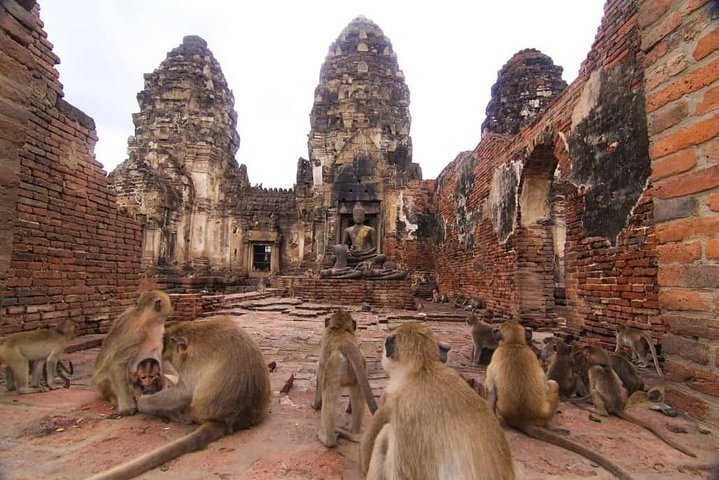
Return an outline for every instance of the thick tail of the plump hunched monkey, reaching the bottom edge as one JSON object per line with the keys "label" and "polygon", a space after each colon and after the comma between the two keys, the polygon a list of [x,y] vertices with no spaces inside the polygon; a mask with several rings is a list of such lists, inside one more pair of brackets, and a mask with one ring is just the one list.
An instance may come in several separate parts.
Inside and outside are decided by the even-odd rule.
{"label": "thick tail of the plump hunched monkey, reaching the bottom edge", "polygon": [[87,480],[127,480],[134,478],[158,465],[177,458],[188,452],[205,448],[225,434],[222,422],[207,422],[194,432],[178,438],[165,446],[149,452],[135,460],[125,462],[104,472],[93,475]]}

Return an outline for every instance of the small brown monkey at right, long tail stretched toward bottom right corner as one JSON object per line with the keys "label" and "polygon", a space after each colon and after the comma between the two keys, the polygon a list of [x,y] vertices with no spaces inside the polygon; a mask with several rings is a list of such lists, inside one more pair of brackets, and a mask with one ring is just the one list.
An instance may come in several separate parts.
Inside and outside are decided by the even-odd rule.
{"label": "small brown monkey at right, long tail stretched toward bottom right corner", "polygon": [[690,457],[696,457],[694,452],[673,441],[654,425],[640,420],[624,410],[627,404],[627,389],[624,388],[619,376],[609,366],[609,355],[606,351],[601,347],[587,345],[582,349],[582,352],[589,364],[589,394],[592,397],[594,409],[599,415],[616,415],[644,427],[680,452]]}

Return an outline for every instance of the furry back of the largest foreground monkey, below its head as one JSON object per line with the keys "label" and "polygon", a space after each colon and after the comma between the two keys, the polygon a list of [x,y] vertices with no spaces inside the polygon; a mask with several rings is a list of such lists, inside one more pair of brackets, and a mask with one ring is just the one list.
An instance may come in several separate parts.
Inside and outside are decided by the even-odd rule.
{"label": "furry back of the largest foreground monkey, below its head", "polygon": [[414,375],[390,401],[391,423],[404,446],[397,449],[398,478],[514,478],[499,422],[453,370],[442,365],[431,375]]}

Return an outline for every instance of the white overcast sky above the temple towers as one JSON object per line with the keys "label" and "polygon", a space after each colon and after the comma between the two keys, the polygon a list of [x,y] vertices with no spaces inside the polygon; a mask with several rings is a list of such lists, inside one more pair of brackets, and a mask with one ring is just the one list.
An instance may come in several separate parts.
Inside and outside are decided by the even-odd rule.
{"label": "white overcast sky above the temple towers", "polygon": [[143,74],[199,35],[235,95],[250,182],[290,187],[307,158],[309,113],[330,44],[355,17],[391,40],[410,89],[413,161],[436,178],[480,140],[497,72],[537,48],[576,78],[604,0],[39,0],[65,99],[95,119],[97,159],[127,158]]}

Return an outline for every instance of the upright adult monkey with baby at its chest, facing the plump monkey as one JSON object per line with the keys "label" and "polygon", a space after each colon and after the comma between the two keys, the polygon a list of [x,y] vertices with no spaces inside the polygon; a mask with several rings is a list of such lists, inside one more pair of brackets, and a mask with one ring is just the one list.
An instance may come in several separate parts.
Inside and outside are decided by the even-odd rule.
{"label": "upright adult monkey with baby at its chest, facing the plump monkey", "polygon": [[95,360],[92,380],[100,397],[113,402],[120,415],[137,411],[130,373],[142,360],[162,356],[165,320],[172,311],[170,297],[160,290],[143,293],[137,305],[125,310],[110,329]]}

